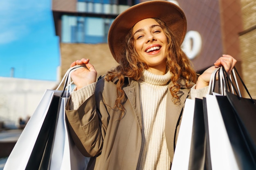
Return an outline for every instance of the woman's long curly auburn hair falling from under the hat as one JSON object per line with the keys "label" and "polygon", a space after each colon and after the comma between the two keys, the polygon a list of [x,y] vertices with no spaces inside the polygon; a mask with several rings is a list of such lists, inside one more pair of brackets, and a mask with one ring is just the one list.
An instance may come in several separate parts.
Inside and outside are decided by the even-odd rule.
{"label": "woman's long curly auburn hair falling from under the hat", "polygon": [[[192,87],[190,82],[196,83],[197,74],[191,67],[191,61],[188,59],[186,54],[180,47],[180,42],[175,39],[172,31],[166,26],[166,24],[158,19],[154,18],[157,23],[162,27],[167,37],[167,48],[166,48],[166,70],[172,73],[171,81],[173,86],[170,87],[171,95],[173,96],[173,102],[179,103],[179,96],[177,92],[180,90],[180,84],[178,80],[182,77],[186,80],[186,87]],[[148,70],[148,64],[141,60],[138,53],[135,50],[135,39],[133,37],[133,29],[125,39],[126,49],[122,52],[123,57],[120,57],[119,65],[105,76],[106,81],[113,81],[118,78],[117,82],[117,99],[115,106],[117,109],[124,112],[125,108],[122,105],[124,101],[125,93],[123,90],[125,77],[129,77],[138,81],[141,78],[143,70]]]}

